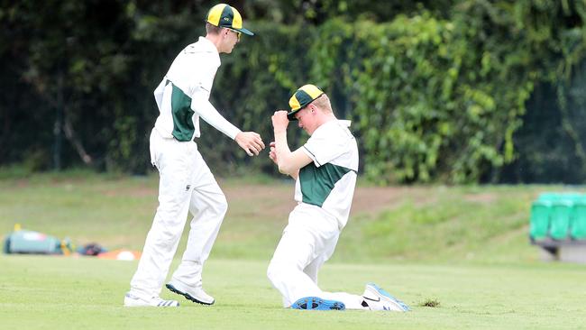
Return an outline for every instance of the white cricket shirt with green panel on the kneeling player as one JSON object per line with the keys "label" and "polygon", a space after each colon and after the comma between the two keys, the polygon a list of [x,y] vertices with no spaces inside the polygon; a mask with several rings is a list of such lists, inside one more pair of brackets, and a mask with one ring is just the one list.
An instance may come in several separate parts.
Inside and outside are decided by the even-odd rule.
{"label": "white cricket shirt with green panel on the kneeling player", "polygon": [[295,183],[298,203],[320,206],[340,228],[348,222],[358,172],[358,146],[349,121],[322,124],[301,147],[313,162],[299,170]]}

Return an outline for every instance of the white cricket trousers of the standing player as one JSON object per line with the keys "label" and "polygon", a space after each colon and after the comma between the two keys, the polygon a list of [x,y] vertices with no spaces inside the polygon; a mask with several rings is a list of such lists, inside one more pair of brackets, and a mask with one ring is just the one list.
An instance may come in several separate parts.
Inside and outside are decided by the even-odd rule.
{"label": "white cricket trousers of the standing player", "polygon": [[195,142],[163,138],[155,129],[150,142],[151,162],[160,174],[159,207],[131,280],[131,293],[146,298],[160,295],[188,213],[193,215],[188,245],[173,280],[201,286],[202,267],[227,209],[224,193]]}

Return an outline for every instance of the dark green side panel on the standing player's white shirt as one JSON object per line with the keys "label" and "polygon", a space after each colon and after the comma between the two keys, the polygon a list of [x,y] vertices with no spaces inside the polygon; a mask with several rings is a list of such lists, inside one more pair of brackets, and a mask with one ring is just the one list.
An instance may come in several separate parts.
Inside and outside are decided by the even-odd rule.
{"label": "dark green side panel on the standing player's white shirt", "polygon": [[177,141],[191,141],[195,128],[193,126],[193,114],[191,110],[191,97],[187,96],[179,87],[171,82],[171,114],[173,115],[173,136]]}

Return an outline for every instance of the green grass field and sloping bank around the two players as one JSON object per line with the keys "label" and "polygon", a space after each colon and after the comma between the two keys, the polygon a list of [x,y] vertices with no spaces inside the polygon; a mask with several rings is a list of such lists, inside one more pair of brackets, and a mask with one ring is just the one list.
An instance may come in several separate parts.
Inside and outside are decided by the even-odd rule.
{"label": "green grass field and sloping bank around the two players", "polygon": [[[413,307],[398,314],[281,308],[265,271],[293,206],[290,182],[221,185],[230,208],[204,273],[215,306],[122,307],[135,261],[0,255],[0,329],[584,328],[586,266],[539,261],[526,238],[531,200],[563,187],[361,185],[320,286],[361,293],[377,282]],[[3,179],[0,234],[19,223],[140,250],[156,189],[156,177],[83,172]]]}

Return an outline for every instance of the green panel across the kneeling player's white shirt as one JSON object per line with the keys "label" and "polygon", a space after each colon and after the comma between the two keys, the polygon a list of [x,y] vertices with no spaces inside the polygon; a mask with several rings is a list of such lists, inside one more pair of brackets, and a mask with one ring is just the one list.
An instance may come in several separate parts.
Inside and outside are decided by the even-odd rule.
{"label": "green panel across the kneeling player's white shirt", "polygon": [[353,171],[342,166],[327,163],[316,167],[313,162],[299,170],[299,185],[303,203],[323,206],[334,185],[346,173]]}

